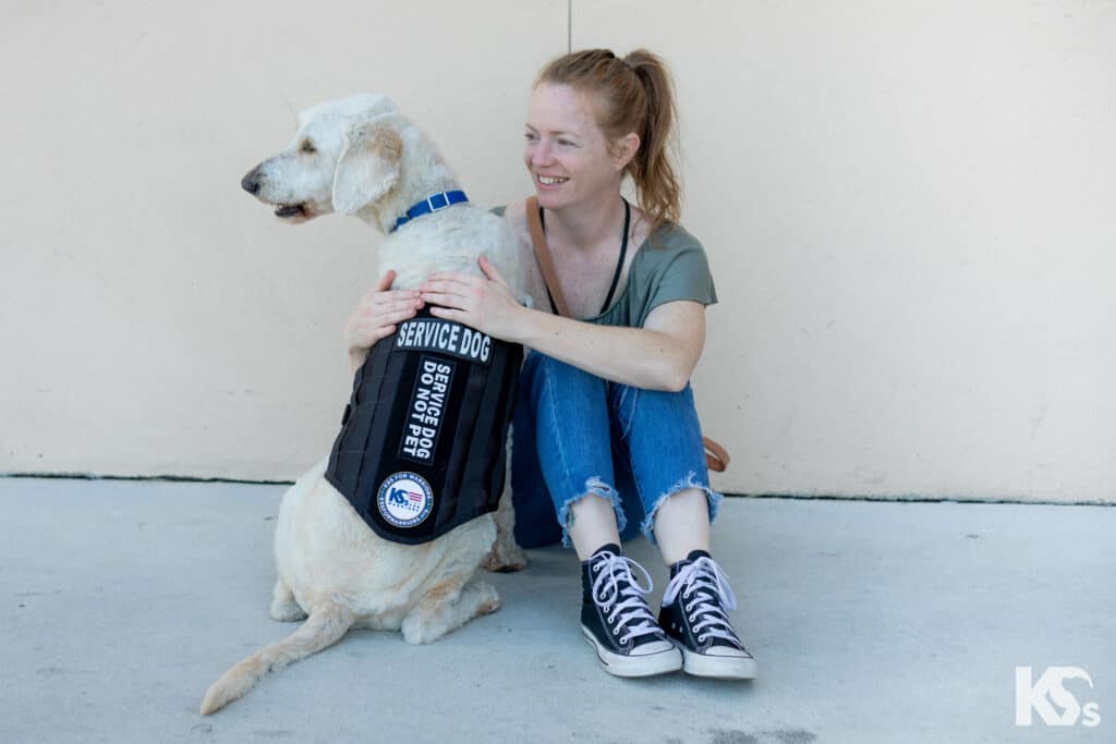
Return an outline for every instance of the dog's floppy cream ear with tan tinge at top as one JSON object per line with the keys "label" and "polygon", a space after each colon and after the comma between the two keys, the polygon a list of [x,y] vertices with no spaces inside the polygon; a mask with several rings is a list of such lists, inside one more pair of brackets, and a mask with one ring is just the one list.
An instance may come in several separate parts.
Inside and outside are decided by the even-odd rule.
{"label": "dog's floppy cream ear with tan tinge at top", "polygon": [[383,118],[352,123],[334,173],[334,210],[352,215],[383,197],[398,182],[402,160],[403,139]]}

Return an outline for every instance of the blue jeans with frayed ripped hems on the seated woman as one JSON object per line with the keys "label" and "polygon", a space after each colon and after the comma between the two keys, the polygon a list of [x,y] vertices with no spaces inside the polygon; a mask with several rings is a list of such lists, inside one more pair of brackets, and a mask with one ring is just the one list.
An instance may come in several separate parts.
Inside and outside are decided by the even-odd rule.
{"label": "blue jeans with frayed ripped hems on the seated woman", "polygon": [[[693,390],[612,383],[531,351],[519,378],[512,438],[516,540],[569,545],[569,508],[587,493],[613,502],[620,539],[654,542],[655,510],[683,489],[705,492],[713,521]],[[556,519],[557,518],[557,519]]]}

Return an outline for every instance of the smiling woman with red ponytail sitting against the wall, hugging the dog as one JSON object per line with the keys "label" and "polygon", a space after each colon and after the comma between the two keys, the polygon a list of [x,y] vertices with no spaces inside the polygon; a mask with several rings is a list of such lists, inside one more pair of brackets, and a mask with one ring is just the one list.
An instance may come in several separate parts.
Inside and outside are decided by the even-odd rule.
{"label": "smiling woman with red ponytail sitting against the wall, hugging the dog", "polygon": [[[523,162],[574,318],[520,306],[481,259],[487,278],[434,274],[416,291],[389,291],[388,272],[346,336],[357,364],[430,302],[439,318],[532,349],[512,448],[520,543],[573,541],[581,630],[607,671],[750,678],[756,661],[725,613],[735,599],[709,553],[721,495],[709,486],[689,378],[716,294],[701,244],[676,224],[673,120],[668,73],[645,50],[551,61],[531,96]],[[637,207],[620,196],[625,175]],[[522,228],[526,210],[504,219]],[[657,621],[651,577],[620,553],[622,531],[636,529],[671,569]]]}

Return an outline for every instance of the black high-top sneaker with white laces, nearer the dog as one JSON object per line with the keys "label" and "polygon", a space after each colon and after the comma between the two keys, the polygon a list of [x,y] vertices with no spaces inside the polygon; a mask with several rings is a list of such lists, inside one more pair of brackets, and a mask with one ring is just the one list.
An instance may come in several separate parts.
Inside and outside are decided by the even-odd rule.
{"label": "black high-top sneaker with white laces, nearer the dog", "polygon": [[[632,568],[647,588],[632,577]],[[581,563],[581,632],[597,651],[605,671],[617,677],[647,677],[682,668],[682,655],[655,624],[647,600],[651,576],[619,545],[597,549]]]}

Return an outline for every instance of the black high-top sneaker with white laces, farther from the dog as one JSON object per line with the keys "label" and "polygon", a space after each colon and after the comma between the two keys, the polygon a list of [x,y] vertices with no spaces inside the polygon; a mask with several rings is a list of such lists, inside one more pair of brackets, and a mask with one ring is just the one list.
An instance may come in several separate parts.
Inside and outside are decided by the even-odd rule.
{"label": "black high-top sneaker with white laces, farther from the dog", "polygon": [[671,567],[658,624],[682,649],[683,669],[699,677],[751,679],[756,659],[737,638],[725,610],[737,609],[729,580],[704,550]]}

